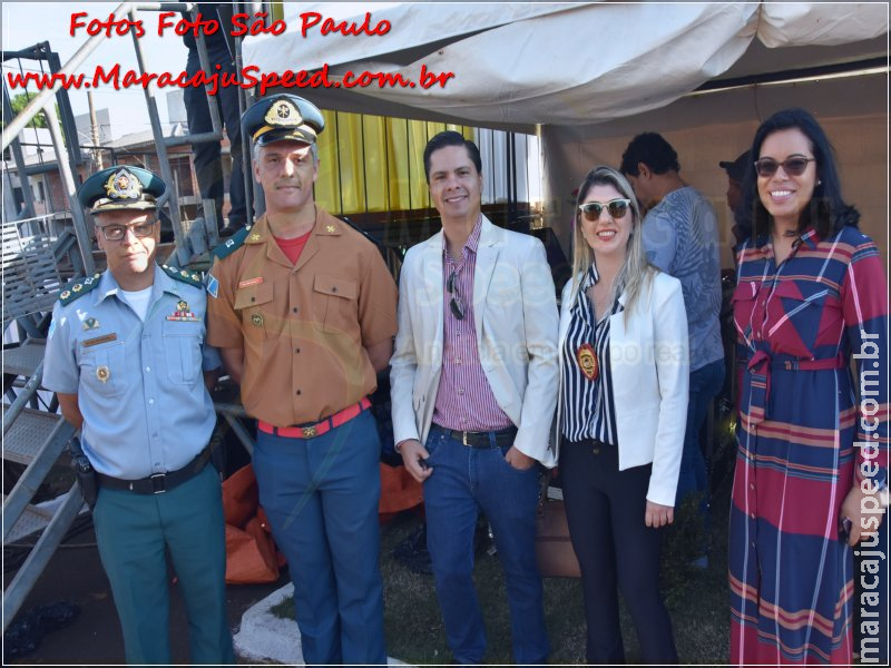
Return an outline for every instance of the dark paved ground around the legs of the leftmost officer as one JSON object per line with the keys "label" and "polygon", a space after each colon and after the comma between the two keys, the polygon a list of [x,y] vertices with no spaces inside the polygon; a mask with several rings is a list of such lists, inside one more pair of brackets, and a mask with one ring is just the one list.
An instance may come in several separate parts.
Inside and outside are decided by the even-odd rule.
{"label": "dark paved ground around the legs of the leftmost officer", "polygon": [[[58,600],[80,606],[79,617],[68,627],[43,637],[40,647],[27,656],[10,659],[12,664],[32,665],[97,665],[124,664],[124,642],[108,580],[99,562],[96,538],[89,525],[56,552],[22,607],[22,611]],[[4,564],[14,554],[4,550]],[[3,586],[14,571],[3,573]],[[283,577],[272,584],[238,584],[227,588],[229,625],[238,629],[242,615],[255,602],[268,596],[287,581]],[[174,661],[188,661],[188,639],[185,607],[176,587],[172,589],[170,638]]]}

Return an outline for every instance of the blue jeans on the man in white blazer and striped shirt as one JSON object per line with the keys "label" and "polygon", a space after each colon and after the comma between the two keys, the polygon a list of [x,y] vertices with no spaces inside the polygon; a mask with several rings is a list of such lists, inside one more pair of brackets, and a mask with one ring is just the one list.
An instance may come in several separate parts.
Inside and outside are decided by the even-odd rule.
{"label": "blue jeans on the man in white blazer and striped shirt", "polygon": [[541,574],[535,553],[538,466],[513,469],[510,446],[469,448],[437,425],[427,439],[433,474],[424,482],[427,546],[446,637],[454,660],[479,664],[486,652],[482,612],[473,588],[473,533],[480,511],[495,533],[510,606],[513,660],[545,664]]}

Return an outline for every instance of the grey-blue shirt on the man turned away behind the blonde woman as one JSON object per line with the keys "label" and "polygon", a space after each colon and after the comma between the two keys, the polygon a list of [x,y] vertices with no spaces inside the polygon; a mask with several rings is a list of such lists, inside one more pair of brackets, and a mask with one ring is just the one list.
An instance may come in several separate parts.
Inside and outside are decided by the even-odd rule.
{"label": "grey-blue shirt on the man turned away behind the blonde woman", "polygon": [[650,264],[681,281],[689,332],[689,370],[724,358],[717,216],[694,188],[672,190],[644,218]]}

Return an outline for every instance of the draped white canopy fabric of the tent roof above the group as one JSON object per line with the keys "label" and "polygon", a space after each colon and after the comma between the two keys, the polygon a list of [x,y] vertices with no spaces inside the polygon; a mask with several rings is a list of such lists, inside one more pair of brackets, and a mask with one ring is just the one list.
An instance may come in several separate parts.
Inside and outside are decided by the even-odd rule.
{"label": "draped white canopy fabric of the tent roof above the group", "polygon": [[[390,30],[322,35],[316,23],[303,37],[307,12],[356,24],[371,12],[372,27],[388,21]],[[285,22],[284,35],[248,39],[245,62],[266,72],[327,65],[333,79],[347,70],[411,81],[422,67],[454,73],[429,89],[307,90],[322,106],[414,108],[414,117],[505,128],[611,120],[664,107],[722,76],[888,55],[885,3],[286,2]]]}

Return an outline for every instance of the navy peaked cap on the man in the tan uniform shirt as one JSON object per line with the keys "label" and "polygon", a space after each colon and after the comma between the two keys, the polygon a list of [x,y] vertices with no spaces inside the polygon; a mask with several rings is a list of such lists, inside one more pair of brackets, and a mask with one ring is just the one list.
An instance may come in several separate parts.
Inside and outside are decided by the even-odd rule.
{"label": "navy peaked cap on the man in the tan uniform shirt", "polygon": [[325,119],[319,107],[295,95],[260,100],[242,116],[242,132],[261,146],[285,139],[315,144],[324,129]]}

